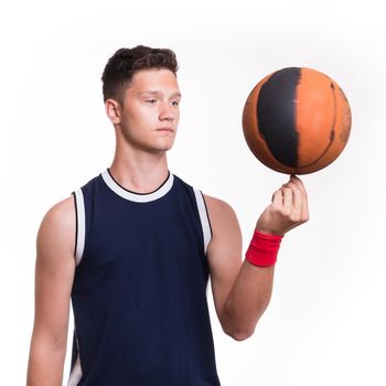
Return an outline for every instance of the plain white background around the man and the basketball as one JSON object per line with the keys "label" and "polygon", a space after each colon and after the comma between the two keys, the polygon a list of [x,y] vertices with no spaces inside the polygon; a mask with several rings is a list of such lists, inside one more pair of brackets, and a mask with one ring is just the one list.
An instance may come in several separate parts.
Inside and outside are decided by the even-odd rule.
{"label": "plain white background around the man and the basketball", "polygon": [[[303,176],[311,219],[283,239],[255,335],[226,336],[211,303],[217,367],[224,386],[386,385],[384,23],[372,0],[1,6],[1,384],[25,383],[40,222],[112,160],[103,68],[118,47],[144,44],[171,47],[180,62],[170,170],[235,208],[244,251],[287,180],[244,141],[250,89],[287,66],[319,69],[343,88],[351,139],[333,164]],[[68,371],[67,358],[65,380]]]}

